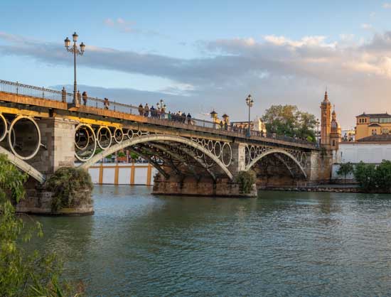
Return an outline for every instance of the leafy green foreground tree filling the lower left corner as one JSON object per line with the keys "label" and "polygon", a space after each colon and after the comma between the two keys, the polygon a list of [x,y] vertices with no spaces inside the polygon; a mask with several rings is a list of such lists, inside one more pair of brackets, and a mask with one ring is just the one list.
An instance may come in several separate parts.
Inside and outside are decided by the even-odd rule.
{"label": "leafy green foreground tree filling the lower left corner", "polygon": [[0,296],[70,296],[70,287],[59,281],[58,258],[22,247],[33,234],[43,236],[41,224],[27,227],[11,203],[24,198],[26,180],[27,175],[0,154]]}

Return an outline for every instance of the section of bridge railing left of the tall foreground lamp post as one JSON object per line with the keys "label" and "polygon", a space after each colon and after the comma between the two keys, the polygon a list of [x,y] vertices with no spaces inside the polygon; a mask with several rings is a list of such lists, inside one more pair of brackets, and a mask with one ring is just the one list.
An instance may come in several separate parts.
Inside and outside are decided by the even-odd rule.
{"label": "section of bridge railing left of the tall foreground lamp post", "polygon": [[58,90],[51,90],[45,87],[36,87],[32,85],[23,85],[18,82],[9,82],[7,80],[0,80],[0,92],[36,97],[39,99],[50,99],[60,102],[63,101],[63,99],[65,99],[66,102],[73,101],[73,94],[71,93],[66,93],[65,98],[63,98],[63,92]]}

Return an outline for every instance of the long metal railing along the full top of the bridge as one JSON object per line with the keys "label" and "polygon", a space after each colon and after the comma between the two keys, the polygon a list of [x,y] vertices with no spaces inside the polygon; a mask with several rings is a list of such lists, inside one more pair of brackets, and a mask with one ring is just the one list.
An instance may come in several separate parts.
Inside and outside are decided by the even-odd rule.
{"label": "long metal railing along the full top of the bridge", "polygon": [[[6,80],[0,80],[0,92],[6,92],[10,94],[16,95],[24,95],[28,97],[36,97],[40,99],[50,99],[59,102],[67,102],[73,103],[73,94],[58,90],[51,90],[45,87],[35,87],[32,85],[23,85],[18,82],[9,82]],[[161,112],[157,109],[151,111],[149,108],[148,112],[144,107],[141,109],[140,107],[134,106],[132,104],[123,104],[111,100],[105,100],[94,97],[82,97],[80,96],[80,105],[85,105],[87,107],[95,107],[97,109],[109,109],[115,112],[122,112],[124,114],[134,114],[142,117],[148,117],[149,119],[153,119],[156,121],[156,124],[168,125],[171,126],[171,123],[180,123],[186,124],[189,126],[199,126],[204,128],[215,129],[219,131],[230,131],[231,133],[235,133],[238,136],[243,136],[247,134],[247,129],[240,128],[237,126],[231,125],[222,125],[220,123],[214,121],[207,121],[205,119],[196,119],[193,117],[188,118],[187,115],[183,116],[183,114],[177,113],[167,113]],[[316,144],[306,141],[304,139],[296,139],[288,136],[280,136],[277,134],[263,133],[262,131],[251,131],[251,136],[256,137],[264,137],[266,139],[277,139],[279,141],[287,141],[296,144],[305,144],[318,147]]]}

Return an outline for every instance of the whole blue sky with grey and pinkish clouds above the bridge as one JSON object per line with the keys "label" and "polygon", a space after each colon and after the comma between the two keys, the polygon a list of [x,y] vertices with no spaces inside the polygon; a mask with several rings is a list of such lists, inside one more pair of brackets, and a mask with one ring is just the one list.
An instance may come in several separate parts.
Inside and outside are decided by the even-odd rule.
{"label": "whole blue sky with grey and pinkish clouds above the bridge", "polygon": [[320,117],[327,87],[343,128],[391,113],[391,0],[0,0],[0,80],[73,89],[193,117],[245,120],[272,104]]}

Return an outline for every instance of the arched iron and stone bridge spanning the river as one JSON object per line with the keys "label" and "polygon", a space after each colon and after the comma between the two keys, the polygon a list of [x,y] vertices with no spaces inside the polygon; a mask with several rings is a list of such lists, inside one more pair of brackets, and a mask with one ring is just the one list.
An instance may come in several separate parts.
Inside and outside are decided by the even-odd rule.
{"label": "arched iron and stone bridge spanning the river", "polygon": [[174,120],[166,113],[144,117],[131,104],[85,99],[0,80],[0,153],[44,185],[61,166],[87,169],[126,148],[159,171],[156,194],[240,195],[240,171],[255,171],[257,185],[329,176],[328,161],[307,141],[259,131],[246,136],[215,121]]}

